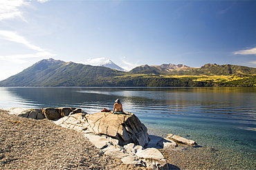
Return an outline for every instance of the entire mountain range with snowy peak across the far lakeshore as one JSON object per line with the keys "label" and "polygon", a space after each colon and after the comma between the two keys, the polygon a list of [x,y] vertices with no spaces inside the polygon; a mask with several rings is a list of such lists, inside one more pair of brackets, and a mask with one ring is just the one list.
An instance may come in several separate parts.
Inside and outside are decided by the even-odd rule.
{"label": "entire mountain range with snowy peak across the far lakeshore", "polygon": [[[115,67],[113,67],[115,66]],[[44,59],[19,74],[0,81],[5,87],[212,87],[256,86],[256,68],[241,65],[205,64],[140,65],[119,71],[112,61],[100,66]],[[112,67],[112,68],[109,68]],[[121,68],[122,69],[122,68]]]}

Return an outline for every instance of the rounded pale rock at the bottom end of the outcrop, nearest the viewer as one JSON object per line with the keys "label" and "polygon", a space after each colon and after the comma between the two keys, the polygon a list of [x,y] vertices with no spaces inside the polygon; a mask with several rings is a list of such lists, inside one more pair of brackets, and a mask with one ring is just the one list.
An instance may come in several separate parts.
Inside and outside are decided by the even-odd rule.
{"label": "rounded pale rock at the bottom end of the outcrop, nearest the viewer", "polygon": [[162,153],[156,148],[147,148],[138,151],[136,156],[145,162],[146,166],[151,169],[168,169],[167,160],[163,157]]}

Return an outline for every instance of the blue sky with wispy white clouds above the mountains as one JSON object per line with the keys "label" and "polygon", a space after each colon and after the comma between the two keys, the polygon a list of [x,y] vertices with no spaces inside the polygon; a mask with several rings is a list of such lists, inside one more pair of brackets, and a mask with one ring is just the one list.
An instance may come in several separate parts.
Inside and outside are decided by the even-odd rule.
{"label": "blue sky with wispy white clouds above the mountains", "polygon": [[256,1],[0,0],[0,81],[51,58],[256,67]]}

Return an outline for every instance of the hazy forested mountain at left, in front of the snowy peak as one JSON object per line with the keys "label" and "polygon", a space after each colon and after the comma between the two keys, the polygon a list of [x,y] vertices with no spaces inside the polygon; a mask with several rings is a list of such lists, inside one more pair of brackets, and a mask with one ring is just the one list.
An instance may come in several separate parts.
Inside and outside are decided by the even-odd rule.
{"label": "hazy forested mountain at left, in front of the snowy peak", "polygon": [[47,65],[43,60],[1,81],[0,86],[83,86],[91,80],[122,74],[107,67],[64,62]]}

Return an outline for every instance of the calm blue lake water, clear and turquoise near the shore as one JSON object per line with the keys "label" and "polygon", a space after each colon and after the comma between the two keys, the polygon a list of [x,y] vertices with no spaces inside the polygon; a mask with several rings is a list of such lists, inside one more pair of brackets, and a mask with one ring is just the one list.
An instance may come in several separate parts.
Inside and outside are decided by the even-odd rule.
{"label": "calm blue lake water, clear and turquoise near the shore", "polygon": [[79,107],[90,114],[113,109],[120,98],[149,134],[176,134],[255,164],[255,87],[0,87],[0,96],[0,108]]}

